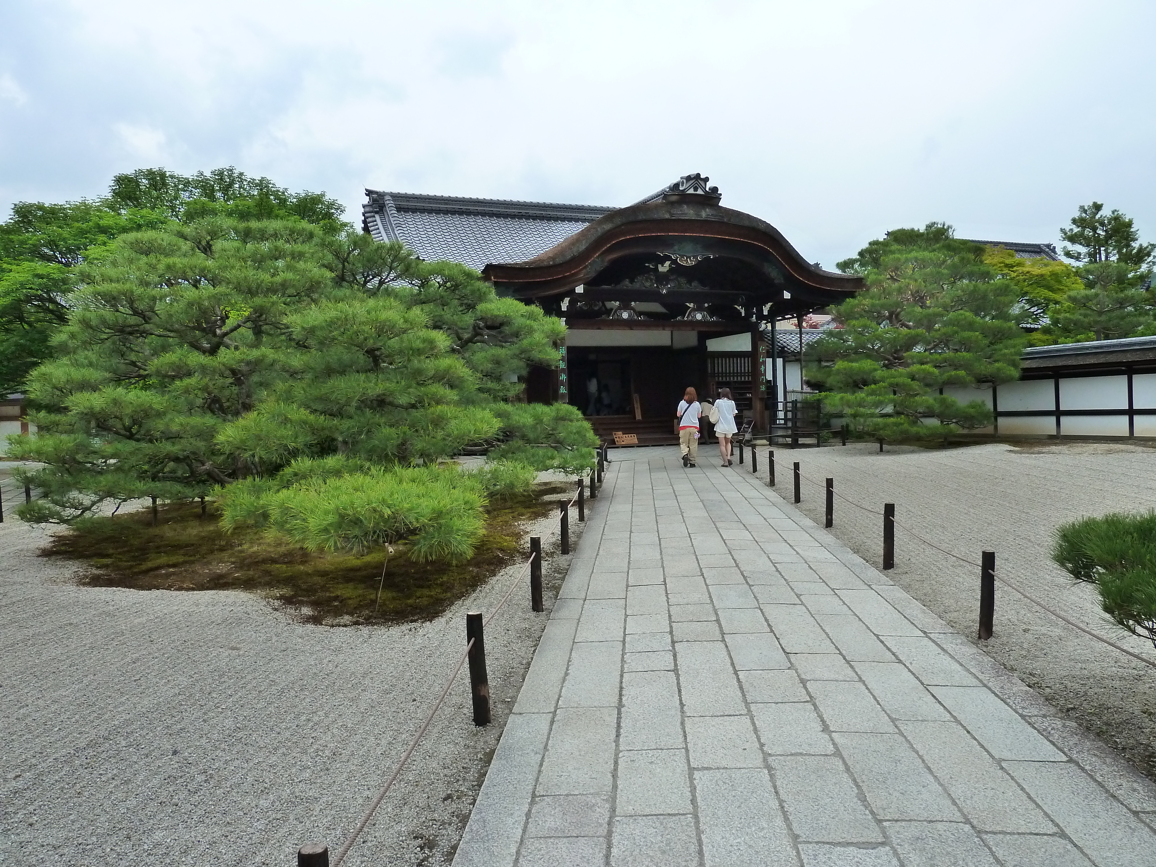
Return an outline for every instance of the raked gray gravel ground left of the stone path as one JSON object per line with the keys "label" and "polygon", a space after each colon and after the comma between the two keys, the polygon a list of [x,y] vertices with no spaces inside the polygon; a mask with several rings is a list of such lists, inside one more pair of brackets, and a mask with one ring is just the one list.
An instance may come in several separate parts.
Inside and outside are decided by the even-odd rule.
{"label": "raked gray gravel ground left of the stone path", "polygon": [[[569,557],[554,518],[535,527],[556,588]],[[0,525],[0,864],[21,867],[335,851],[457,662],[465,612],[520,570],[430,623],[326,628],[246,593],[77,587],[45,540]],[[486,635],[494,724],[473,726],[459,675],[348,867],[449,864],[547,616],[514,592]]]}

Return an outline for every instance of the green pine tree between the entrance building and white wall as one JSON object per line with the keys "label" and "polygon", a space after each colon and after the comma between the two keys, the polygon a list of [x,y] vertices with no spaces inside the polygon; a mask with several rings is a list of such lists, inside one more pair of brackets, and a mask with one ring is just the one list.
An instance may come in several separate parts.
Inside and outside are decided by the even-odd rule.
{"label": "green pine tree between the entrance building and white wall", "polygon": [[[951,393],[1018,377],[1020,292],[984,249],[928,223],[873,240],[838,267],[867,288],[833,310],[807,377],[828,412],[885,439],[943,436],[992,423],[981,400]],[[962,392],[956,391],[955,394]]]}

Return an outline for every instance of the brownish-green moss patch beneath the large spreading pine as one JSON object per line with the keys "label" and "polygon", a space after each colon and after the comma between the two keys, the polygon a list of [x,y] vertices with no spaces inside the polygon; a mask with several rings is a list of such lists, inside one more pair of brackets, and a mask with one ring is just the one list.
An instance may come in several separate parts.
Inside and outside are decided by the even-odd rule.
{"label": "brownish-green moss patch beneath the large spreading pine", "polygon": [[149,510],[81,521],[44,556],[86,564],[80,581],[94,587],[251,591],[312,623],[427,620],[517,560],[525,524],[556,510],[549,497],[563,490],[569,486],[540,484],[532,494],[495,501],[474,555],[459,564],[414,562],[405,543],[394,544],[377,613],[384,549],[309,553],[252,527],[227,533],[212,507],[201,518],[195,503],[162,506],[156,527]]}

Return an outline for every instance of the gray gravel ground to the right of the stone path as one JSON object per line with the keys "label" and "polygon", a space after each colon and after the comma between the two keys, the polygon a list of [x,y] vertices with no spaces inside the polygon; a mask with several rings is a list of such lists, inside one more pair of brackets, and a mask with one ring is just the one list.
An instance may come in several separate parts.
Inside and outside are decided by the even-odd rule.
{"label": "gray gravel ground to the right of the stone path", "polygon": [[[766,477],[766,451],[759,449]],[[776,449],[778,492],[792,499],[791,464],[805,476],[799,506],[823,523],[822,484],[882,511],[942,548],[979,561],[1081,625],[1156,662],[1150,643],[1125,632],[1099,608],[1095,587],[1076,584],[1051,560],[1052,534],[1084,516],[1156,507],[1156,449],[1102,443],[1002,444],[929,451],[876,445]],[[735,462],[735,468],[739,468]],[[743,467],[749,470],[749,462]],[[882,566],[882,518],[835,501],[831,532]],[[978,622],[979,570],[896,529],[896,584],[965,636]],[[977,642],[978,643],[978,642]],[[995,631],[987,653],[1048,702],[1119,749],[1156,779],[1156,668],[1133,660],[996,584]]]}

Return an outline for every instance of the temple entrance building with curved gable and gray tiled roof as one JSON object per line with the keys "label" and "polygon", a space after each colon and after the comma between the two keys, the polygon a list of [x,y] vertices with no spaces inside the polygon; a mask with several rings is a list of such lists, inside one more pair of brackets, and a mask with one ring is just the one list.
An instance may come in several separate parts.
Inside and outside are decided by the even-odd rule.
{"label": "temple entrance building with curved gable and gray tiled roof", "polygon": [[725,385],[762,431],[787,397],[776,323],[801,324],[862,280],[812,265],[707,181],[688,175],[624,208],[366,191],[364,225],[565,320],[563,364],[532,371],[527,400],[566,401],[605,438],[658,443],[688,385],[703,398]]}

